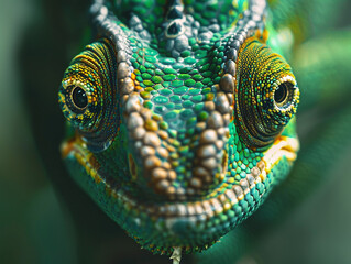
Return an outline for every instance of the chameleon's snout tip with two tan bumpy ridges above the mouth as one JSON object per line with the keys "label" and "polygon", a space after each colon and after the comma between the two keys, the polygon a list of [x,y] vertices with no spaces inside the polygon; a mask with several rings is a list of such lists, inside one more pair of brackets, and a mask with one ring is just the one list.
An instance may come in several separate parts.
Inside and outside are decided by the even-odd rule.
{"label": "chameleon's snout tip with two tan bumpy ridges above the mouth", "polygon": [[128,154],[131,178],[145,194],[167,200],[207,196],[223,180],[227,167],[228,129],[222,114],[213,111],[207,124],[197,124],[201,133],[184,142],[177,131],[165,130],[172,124],[141,101],[136,94],[130,95],[123,116],[132,150]]}

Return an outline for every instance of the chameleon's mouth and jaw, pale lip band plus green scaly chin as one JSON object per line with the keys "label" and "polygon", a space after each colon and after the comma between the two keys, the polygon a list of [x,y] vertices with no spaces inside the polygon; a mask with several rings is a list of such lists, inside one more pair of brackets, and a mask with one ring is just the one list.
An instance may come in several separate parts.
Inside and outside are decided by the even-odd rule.
{"label": "chameleon's mouth and jaw, pale lip band plus green scaly chin", "polygon": [[[288,163],[296,160],[299,142],[295,138],[279,135],[273,145],[264,152],[262,160],[251,169],[239,184],[216,195],[209,195],[199,201],[152,202],[140,201],[131,196],[123,187],[116,188],[107,178],[98,173],[99,166],[94,154],[89,152],[79,136],[75,136],[62,144],[62,154],[65,160],[74,157],[86,169],[89,179],[102,185],[110,205],[108,215],[114,219],[143,248],[158,254],[171,254],[174,246],[182,246],[184,252],[201,251],[213,244],[237,224],[248,218],[272,189],[276,180],[271,174],[273,167],[282,158]],[[74,175],[81,177],[81,175]],[[86,175],[84,175],[86,177]],[[78,180],[87,182],[85,180]],[[98,187],[92,184],[84,186],[96,202],[100,202]],[[219,187],[221,188],[221,187]],[[246,200],[253,199],[251,208],[242,210]],[[246,205],[248,206],[248,205]],[[240,210],[239,210],[240,209]],[[250,213],[248,213],[250,211]],[[123,217],[121,217],[123,216]]]}

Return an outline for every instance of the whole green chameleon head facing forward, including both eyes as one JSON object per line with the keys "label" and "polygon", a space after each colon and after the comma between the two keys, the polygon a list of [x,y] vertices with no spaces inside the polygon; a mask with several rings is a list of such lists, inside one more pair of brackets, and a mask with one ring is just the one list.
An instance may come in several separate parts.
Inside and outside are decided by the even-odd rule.
{"label": "whole green chameleon head facing forward, including both eyes", "polygon": [[298,150],[299,90],[260,1],[97,2],[59,89],[72,176],[147,250],[200,251],[248,218]]}

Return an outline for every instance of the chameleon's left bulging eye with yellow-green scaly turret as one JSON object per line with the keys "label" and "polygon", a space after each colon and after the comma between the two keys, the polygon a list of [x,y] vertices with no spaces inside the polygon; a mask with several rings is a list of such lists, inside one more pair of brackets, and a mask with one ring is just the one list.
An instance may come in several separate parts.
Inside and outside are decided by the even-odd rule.
{"label": "chameleon's left bulging eye with yellow-green scaly turret", "polygon": [[101,40],[78,54],[66,69],[58,102],[68,123],[90,151],[109,146],[117,131],[116,53]]}

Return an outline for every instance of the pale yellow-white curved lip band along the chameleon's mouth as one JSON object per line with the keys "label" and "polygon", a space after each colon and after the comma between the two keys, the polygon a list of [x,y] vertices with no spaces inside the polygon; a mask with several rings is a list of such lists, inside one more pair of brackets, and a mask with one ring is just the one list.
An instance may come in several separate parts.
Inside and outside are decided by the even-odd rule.
{"label": "pale yellow-white curved lip band along the chameleon's mouth", "polygon": [[239,184],[233,185],[232,188],[227,189],[224,193],[217,196],[209,196],[205,200],[199,201],[166,201],[153,206],[150,202],[146,204],[135,200],[123,189],[114,189],[106,179],[101,178],[97,172],[99,165],[91,163],[94,155],[87,150],[80,136],[76,135],[70,138],[63,142],[61,146],[64,158],[73,155],[77,162],[86,168],[87,174],[91,176],[95,182],[102,182],[111,196],[123,201],[124,208],[128,208],[128,210],[133,208],[136,211],[143,211],[150,217],[151,215],[153,217],[165,217],[167,221],[166,224],[168,226],[172,226],[178,218],[183,220],[185,218],[188,221],[205,221],[207,218],[231,209],[232,206],[242,200],[257,183],[266,179],[266,175],[283,156],[293,163],[296,160],[298,150],[298,139],[279,135],[273,145],[264,152],[264,156],[257,165],[251,169],[251,174],[248,174]]}

